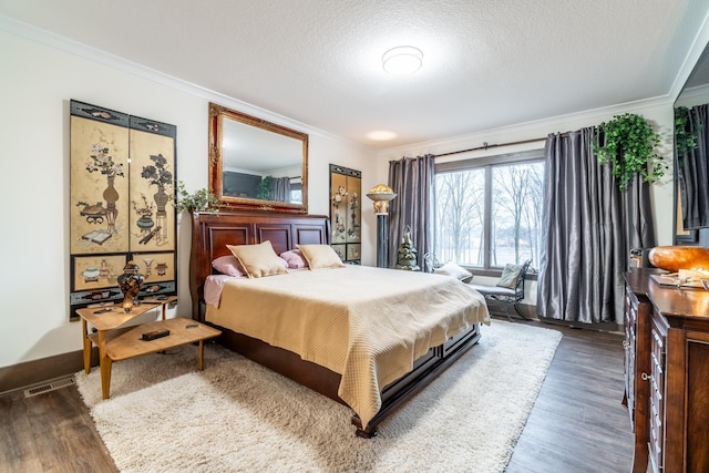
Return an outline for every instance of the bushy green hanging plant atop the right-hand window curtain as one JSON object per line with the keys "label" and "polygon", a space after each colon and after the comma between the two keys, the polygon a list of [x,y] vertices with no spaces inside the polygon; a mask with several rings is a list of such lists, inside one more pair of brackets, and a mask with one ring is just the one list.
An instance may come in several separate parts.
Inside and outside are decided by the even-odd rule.
{"label": "bushy green hanging plant atop the right-hand window curtain", "polygon": [[665,157],[655,151],[660,136],[643,116],[634,113],[616,115],[602,123],[598,131],[603,134],[604,144],[602,146],[602,140],[597,137],[594,153],[600,164],[610,162],[620,191],[627,189],[636,174],[648,183],[665,175]]}

